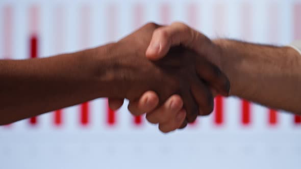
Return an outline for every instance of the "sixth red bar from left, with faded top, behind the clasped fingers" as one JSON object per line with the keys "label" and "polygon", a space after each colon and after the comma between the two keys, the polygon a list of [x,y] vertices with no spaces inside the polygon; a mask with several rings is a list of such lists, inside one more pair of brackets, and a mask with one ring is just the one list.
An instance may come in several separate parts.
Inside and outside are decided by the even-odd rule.
{"label": "sixth red bar from left, with faded top, behind the clasped fingers", "polygon": [[[134,7],[134,27],[140,27],[143,24],[143,7],[141,4],[137,4]],[[137,126],[142,125],[142,117],[134,116],[134,124]]]}

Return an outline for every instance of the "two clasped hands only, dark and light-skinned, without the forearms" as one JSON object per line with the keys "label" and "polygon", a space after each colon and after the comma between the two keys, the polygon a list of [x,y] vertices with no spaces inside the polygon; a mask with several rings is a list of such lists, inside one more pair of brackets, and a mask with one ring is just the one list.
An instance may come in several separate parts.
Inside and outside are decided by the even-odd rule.
{"label": "two clasped hands only, dark and light-skinned, without the forearms", "polygon": [[97,73],[110,108],[118,109],[127,98],[134,116],[146,112],[147,121],[159,124],[162,132],[209,115],[214,96],[229,95],[219,47],[183,23],[148,23],[102,47],[105,52],[99,49],[94,56],[104,65]]}

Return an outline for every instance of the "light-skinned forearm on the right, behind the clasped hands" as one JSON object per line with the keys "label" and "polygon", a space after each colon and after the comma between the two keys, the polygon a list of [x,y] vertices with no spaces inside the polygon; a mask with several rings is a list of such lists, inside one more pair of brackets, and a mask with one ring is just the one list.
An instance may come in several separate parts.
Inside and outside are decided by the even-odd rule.
{"label": "light-skinned forearm on the right, behind the clasped hands", "polygon": [[290,47],[214,40],[230,95],[301,114],[301,55]]}

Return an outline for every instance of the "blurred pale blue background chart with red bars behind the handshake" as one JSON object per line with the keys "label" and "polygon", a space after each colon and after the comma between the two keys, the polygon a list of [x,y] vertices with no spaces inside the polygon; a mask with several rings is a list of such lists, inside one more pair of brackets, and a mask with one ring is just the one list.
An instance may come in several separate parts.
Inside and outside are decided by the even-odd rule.
{"label": "blurred pale blue background chart with red bars behind the handshake", "polygon": [[[1,0],[0,57],[95,47],[150,21],[286,45],[301,39],[301,1]],[[0,168],[300,168],[301,118],[287,112],[218,97],[213,114],[163,134],[127,103],[114,112],[96,99],[1,126]]]}

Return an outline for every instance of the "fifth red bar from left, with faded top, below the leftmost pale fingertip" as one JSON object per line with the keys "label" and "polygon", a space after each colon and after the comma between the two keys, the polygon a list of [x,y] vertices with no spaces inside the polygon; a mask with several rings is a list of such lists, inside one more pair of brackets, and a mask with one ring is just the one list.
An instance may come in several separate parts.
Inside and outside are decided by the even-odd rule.
{"label": "fifth red bar from left, with faded top, below the leftmost pale fingertip", "polygon": [[[115,36],[116,36],[116,13],[117,13],[117,9],[116,6],[113,4],[110,4],[107,8],[106,13],[108,14],[108,21],[107,21],[107,38],[108,41],[112,41],[115,40]],[[116,124],[116,112],[114,110],[112,110],[109,107],[108,101],[107,101],[107,124],[109,126],[114,126]]]}

